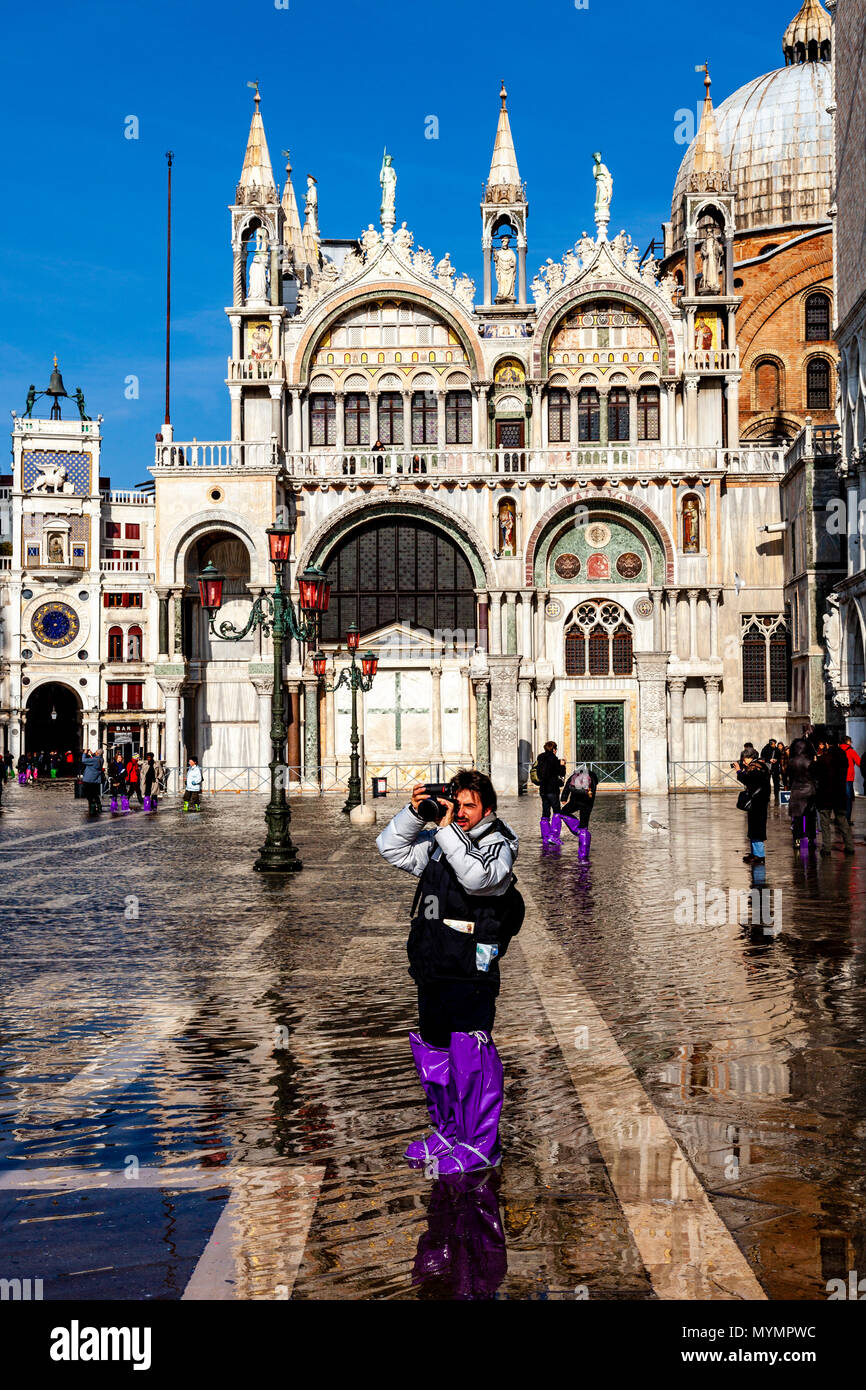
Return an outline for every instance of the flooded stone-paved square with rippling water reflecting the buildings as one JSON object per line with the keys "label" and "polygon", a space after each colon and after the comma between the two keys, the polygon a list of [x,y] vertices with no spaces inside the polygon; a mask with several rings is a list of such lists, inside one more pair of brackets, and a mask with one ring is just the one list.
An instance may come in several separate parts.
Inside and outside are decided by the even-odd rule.
{"label": "flooded stone-paved square with rippling water reflecting the buildings", "polygon": [[[731,795],[605,796],[588,863],[521,835],[502,966],[505,1159],[410,1170],[414,881],[335,798],[252,872],[264,798],[0,816],[6,1279],[44,1298],[826,1300],[866,1270],[866,844]],[[378,802],[379,827],[396,798]],[[666,828],[652,830],[652,813]]]}

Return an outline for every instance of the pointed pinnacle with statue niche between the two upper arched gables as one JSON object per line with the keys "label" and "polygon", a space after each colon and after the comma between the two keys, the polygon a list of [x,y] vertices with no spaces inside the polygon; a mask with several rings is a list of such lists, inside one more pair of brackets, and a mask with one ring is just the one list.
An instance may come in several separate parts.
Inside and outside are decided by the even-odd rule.
{"label": "pointed pinnacle with statue niche between the two upper arched gables", "polygon": [[[491,172],[481,203],[481,245],[484,250],[484,304],[525,304],[527,302],[527,203],[525,186],[517,170],[517,156],[506,106],[505,82]],[[496,297],[492,299],[492,270]]]}

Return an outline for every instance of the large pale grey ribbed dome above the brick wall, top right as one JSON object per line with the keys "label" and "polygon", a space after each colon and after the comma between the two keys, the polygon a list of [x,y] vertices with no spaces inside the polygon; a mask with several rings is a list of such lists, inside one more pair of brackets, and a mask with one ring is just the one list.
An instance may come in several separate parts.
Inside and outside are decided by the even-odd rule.
{"label": "large pale grey ribbed dome above the brick wall, top right", "polygon": [[[716,108],[719,149],[737,192],[737,229],[828,221],[833,178],[828,61],[799,61],[748,82]],[[683,195],[696,139],[680,165],[671,203],[683,245]]]}

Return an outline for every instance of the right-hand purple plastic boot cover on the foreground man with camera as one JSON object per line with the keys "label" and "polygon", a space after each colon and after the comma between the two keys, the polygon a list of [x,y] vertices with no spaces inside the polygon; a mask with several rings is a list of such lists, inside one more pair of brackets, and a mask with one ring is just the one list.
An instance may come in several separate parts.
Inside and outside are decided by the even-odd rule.
{"label": "right-hand purple plastic boot cover on the foreground man with camera", "polygon": [[502,1162],[499,1116],[505,1074],[489,1033],[452,1033],[450,1095],[457,1138],[438,1162],[439,1177]]}

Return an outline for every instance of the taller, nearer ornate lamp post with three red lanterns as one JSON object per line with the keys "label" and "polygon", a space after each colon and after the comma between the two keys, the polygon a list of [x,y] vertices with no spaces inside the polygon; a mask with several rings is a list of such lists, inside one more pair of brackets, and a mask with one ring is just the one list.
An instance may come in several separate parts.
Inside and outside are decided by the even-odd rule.
{"label": "taller, nearer ornate lamp post with three red lanterns", "polygon": [[240,642],[254,627],[274,637],[274,689],[271,692],[271,799],[265,808],[267,821],[265,841],[259,852],[253,869],[263,873],[296,873],[303,869],[297,858],[297,849],[292,844],[289,821],[292,812],[286,801],[288,764],[285,759],[286,726],[284,719],[282,694],[282,646],[286,637],[293,637],[297,642],[317,642],[318,623],[328,612],[331,599],[331,582],[316,567],[304,570],[297,580],[300,589],[299,619],[292,606],[292,600],[284,589],[285,566],[289,562],[292,546],[292,527],[272,525],[267,530],[271,563],[274,566],[275,582],[272,594],[263,594],[253,602],[247,624],[238,630],[231,623],[215,626],[217,613],[222,606],[224,575],[218,573],[213,563],[204,566],[199,577],[199,594],[202,607],[210,614],[210,631],[224,642]]}

